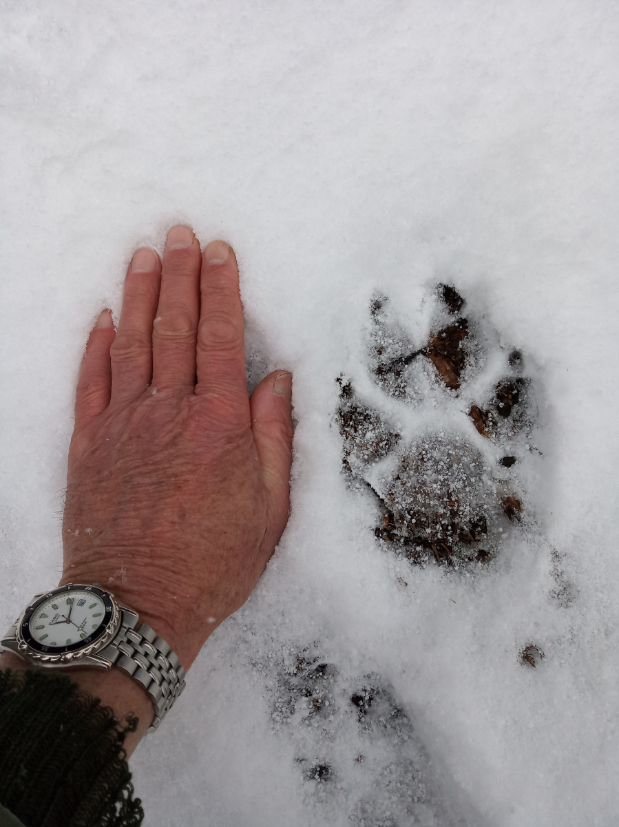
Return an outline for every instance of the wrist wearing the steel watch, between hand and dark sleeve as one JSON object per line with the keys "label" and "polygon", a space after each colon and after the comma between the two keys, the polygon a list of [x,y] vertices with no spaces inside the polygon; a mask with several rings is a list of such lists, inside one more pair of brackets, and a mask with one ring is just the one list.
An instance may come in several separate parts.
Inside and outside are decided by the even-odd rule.
{"label": "wrist wearing the steel watch, between hand and dark sleeve", "polygon": [[171,624],[146,612],[144,600],[134,600],[136,593],[113,595],[93,578],[71,581],[36,595],[2,640],[17,660],[3,663],[22,672],[30,665],[41,674],[60,669],[89,695],[100,697],[118,720],[137,717],[137,743],[151,724],[158,727],[185,687],[174,651],[178,635]]}

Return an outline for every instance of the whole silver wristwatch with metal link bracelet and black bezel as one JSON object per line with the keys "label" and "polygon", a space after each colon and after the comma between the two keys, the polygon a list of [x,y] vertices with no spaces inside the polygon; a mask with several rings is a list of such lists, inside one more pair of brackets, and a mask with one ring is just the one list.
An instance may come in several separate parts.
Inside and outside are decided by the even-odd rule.
{"label": "whole silver wristwatch with metal link bracelet and black bezel", "polygon": [[164,639],[138,623],[137,612],[112,592],[69,583],[35,595],[0,650],[45,669],[121,669],[150,696],[155,717],[148,731],[155,732],[185,688],[185,670]]}

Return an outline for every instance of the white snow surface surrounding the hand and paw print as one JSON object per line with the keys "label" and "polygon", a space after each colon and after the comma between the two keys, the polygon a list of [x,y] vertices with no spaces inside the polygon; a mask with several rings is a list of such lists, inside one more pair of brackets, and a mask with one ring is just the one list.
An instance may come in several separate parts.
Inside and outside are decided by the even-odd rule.
{"label": "white snow surface surrounding the hand and paw print", "polygon": [[[248,354],[294,373],[288,528],[132,758],[145,825],[617,824],[617,2],[0,15],[0,622],[57,582],[79,362],[136,246],[175,222],[230,241]],[[335,421],[344,373],[413,427],[371,381],[369,304],[388,295],[415,338],[445,280],[539,389],[528,523],[474,576],[380,547]],[[301,701],[274,713],[302,652],[336,669],[315,734]],[[398,731],[359,723],[369,675]],[[413,776],[427,795],[407,804]]]}

